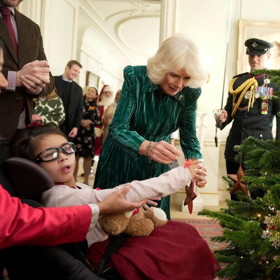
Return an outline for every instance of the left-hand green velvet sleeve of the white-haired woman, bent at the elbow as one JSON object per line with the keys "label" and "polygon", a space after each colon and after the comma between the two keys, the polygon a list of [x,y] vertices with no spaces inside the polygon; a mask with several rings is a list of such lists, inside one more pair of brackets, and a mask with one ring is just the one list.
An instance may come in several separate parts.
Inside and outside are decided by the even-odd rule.
{"label": "left-hand green velvet sleeve of the white-haired woman, bent at the elbow", "polygon": [[137,81],[132,66],[124,69],[124,83],[113,120],[109,125],[109,139],[134,158],[138,156],[141,143],[145,140],[136,131],[129,130],[134,112]]}

